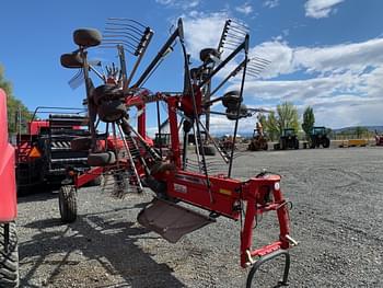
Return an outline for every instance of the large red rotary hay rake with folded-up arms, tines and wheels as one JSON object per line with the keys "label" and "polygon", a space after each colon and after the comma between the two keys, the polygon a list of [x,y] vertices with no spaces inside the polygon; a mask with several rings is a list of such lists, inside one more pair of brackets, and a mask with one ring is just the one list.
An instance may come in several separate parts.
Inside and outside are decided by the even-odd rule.
{"label": "large red rotary hay rake with folded-up arms, tines and wheels", "polygon": [[[140,191],[148,187],[153,192],[153,200],[139,212],[138,222],[172,243],[177,242],[186,233],[213,223],[219,217],[237,221],[241,224],[241,266],[251,267],[246,287],[254,285],[253,278],[259,266],[281,255],[285,256],[286,263],[283,278],[279,285],[287,285],[290,267],[289,249],[297,242],[290,237],[288,212],[290,203],[282,195],[280,175],[262,172],[245,181],[231,176],[239,120],[252,114],[251,110],[243,104],[245,77],[257,76],[260,69],[268,64],[265,59],[248,57],[247,27],[228,20],[218,47],[202,49],[200,66],[190,69],[189,57],[184,44],[183,22],[178,20],[176,28],[166,43],[132,83],[131,80],[153,32],[127,19],[109,19],[108,25],[112,25],[112,28],[106,27],[104,36],[96,30],[74,31],[73,39],[78,49],[62,55],[60,59],[63,67],[80,69],[84,78],[91,135],[86,141],[84,141],[84,148],[91,151],[88,155],[88,163],[91,166],[97,166],[96,173],[103,175],[121,171],[120,176],[126,181],[127,186],[138,186]],[[132,33],[139,35],[130,35]],[[115,38],[118,35],[123,39]],[[184,60],[183,91],[151,92],[143,89],[143,83],[153,74],[164,56],[174,50],[175,43],[178,43]],[[114,69],[107,69],[106,77],[95,72],[102,80],[102,83],[95,88],[90,78],[90,71],[96,69],[88,59],[88,53],[89,48],[98,45],[100,47],[117,48],[120,67],[118,73],[111,73],[115,71],[115,66],[113,66]],[[225,54],[223,54],[224,49],[228,49]],[[137,57],[130,73],[127,72],[125,51]],[[227,55],[225,58],[223,55]],[[243,57],[243,60],[214,90],[211,90],[211,85],[214,84],[212,82],[216,79],[214,76],[239,57]],[[231,77],[240,72],[242,72],[242,78],[237,91],[230,91],[222,96],[213,97]],[[225,111],[211,111],[216,102],[221,103]],[[159,148],[151,146],[146,135],[146,106],[150,103],[163,103],[167,111],[170,152],[166,154],[162,152],[161,145]],[[161,113],[159,105],[156,107],[160,129]],[[137,129],[129,123],[131,108],[141,112],[137,119]],[[233,146],[227,153],[221,151],[201,122],[201,116],[208,113],[223,115],[233,123]],[[108,135],[111,130],[112,138],[123,145],[120,151],[116,152],[116,149],[107,145],[103,147],[96,145],[96,130],[100,123],[105,123],[106,134]],[[188,152],[187,149],[189,135],[193,135],[198,148],[195,153]],[[204,139],[214,146],[227,171],[210,172],[202,148]],[[73,139],[73,141],[80,140]],[[81,175],[76,171],[70,171],[67,185],[61,187],[59,206],[61,219],[65,221],[76,220],[76,192],[82,186],[84,176],[86,174]],[[196,209],[186,208],[178,203],[197,207],[200,211],[197,212]],[[279,226],[277,240],[254,249],[253,232],[256,219],[259,215],[269,211],[276,214]]]}

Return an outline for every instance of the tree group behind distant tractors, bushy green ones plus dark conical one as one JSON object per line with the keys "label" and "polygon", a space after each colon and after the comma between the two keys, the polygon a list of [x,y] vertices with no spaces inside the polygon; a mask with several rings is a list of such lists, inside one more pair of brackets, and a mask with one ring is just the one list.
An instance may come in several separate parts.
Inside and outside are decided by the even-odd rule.
{"label": "tree group behind distant tractors, bushy green ones plus dark conical one", "polygon": [[[271,140],[280,137],[285,128],[300,130],[298,108],[291,102],[283,102],[277,105],[276,112],[259,116],[259,122]],[[302,129],[305,135],[310,135],[315,123],[314,111],[307,106],[303,113]]]}

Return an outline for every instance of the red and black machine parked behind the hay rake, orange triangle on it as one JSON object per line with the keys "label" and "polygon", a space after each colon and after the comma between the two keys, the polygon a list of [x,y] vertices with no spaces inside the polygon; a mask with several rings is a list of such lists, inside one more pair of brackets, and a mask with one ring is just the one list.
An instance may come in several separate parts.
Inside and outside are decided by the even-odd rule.
{"label": "red and black machine parked behind the hay rake, orange triangle on it", "polygon": [[[48,116],[38,119],[37,115]],[[89,117],[82,108],[37,107],[26,134],[16,136],[19,192],[40,185],[61,185],[68,169],[89,170],[88,151],[73,151],[71,140],[86,137]]]}

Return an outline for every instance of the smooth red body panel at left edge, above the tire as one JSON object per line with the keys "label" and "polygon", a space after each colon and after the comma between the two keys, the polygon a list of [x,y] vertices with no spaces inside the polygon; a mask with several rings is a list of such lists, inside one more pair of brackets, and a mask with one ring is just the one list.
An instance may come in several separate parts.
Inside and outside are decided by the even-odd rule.
{"label": "smooth red body panel at left edge, above the tire", "polygon": [[0,89],[0,222],[16,218],[16,183],[14,148],[8,141],[7,94]]}

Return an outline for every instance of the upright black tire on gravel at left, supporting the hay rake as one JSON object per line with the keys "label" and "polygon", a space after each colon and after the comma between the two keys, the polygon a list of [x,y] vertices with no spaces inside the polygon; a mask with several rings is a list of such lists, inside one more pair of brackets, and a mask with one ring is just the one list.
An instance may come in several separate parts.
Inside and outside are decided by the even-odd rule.
{"label": "upright black tire on gravel at left, supporting the hay rake", "polygon": [[77,192],[73,185],[62,185],[58,192],[61,221],[74,222],[77,218]]}

